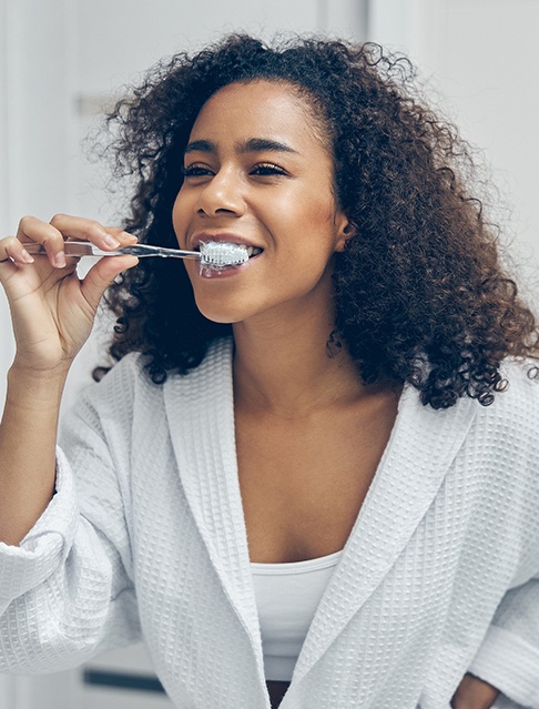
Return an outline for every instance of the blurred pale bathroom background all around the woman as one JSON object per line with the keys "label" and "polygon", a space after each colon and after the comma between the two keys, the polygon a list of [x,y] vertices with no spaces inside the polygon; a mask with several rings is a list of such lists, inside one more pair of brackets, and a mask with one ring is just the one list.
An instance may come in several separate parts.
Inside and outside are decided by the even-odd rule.
{"label": "blurred pale bathroom background all around the woman", "polygon": [[[0,0],[0,235],[65,212],[114,223],[122,201],[82,141],[122,85],[159,59],[231,31],[317,32],[407,53],[435,104],[479,149],[494,216],[539,302],[538,0]],[[68,383],[64,413],[99,361],[96,332]],[[13,355],[0,294],[0,403]],[[0,676],[0,709],[159,709],[142,646],[60,675]]]}

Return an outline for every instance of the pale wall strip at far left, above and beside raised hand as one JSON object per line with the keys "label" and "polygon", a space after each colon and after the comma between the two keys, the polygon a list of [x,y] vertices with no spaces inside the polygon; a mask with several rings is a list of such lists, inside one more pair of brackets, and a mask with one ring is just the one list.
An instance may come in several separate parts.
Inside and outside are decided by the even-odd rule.
{"label": "pale wall strip at far left, above and beside raised hand", "polygon": [[[0,234],[23,214],[73,211],[77,133],[70,102],[69,0],[0,3]],[[13,344],[0,293],[0,402]]]}

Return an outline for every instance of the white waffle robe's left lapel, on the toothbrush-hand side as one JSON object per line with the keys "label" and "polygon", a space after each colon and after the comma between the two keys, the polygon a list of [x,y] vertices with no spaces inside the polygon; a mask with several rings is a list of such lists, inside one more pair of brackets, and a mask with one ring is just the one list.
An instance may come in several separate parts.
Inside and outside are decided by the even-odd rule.
{"label": "white waffle robe's left lapel, on the toothbrush-hand side", "polygon": [[164,399],[189,505],[223,589],[251,636],[263,672],[237,478],[232,342],[217,342],[189,376],[169,377]]}

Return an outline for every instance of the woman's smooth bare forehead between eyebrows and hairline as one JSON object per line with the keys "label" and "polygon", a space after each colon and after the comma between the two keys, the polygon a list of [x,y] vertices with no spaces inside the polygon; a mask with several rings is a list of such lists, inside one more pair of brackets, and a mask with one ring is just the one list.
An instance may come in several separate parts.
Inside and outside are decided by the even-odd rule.
{"label": "woman's smooth bare forehead between eyebrows and hairline", "polygon": [[326,149],[322,132],[319,119],[296,87],[257,80],[232,83],[214,93],[202,107],[190,140],[264,136],[304,146],[316,142]]}

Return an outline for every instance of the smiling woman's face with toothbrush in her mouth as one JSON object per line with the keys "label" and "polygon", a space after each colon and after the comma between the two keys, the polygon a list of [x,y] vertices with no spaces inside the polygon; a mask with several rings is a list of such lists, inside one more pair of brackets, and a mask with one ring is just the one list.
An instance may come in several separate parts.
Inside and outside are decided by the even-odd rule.
{"label": "smiling woman's face with toothbrush in her mouth", "polygon": [[202,108],[173,210],[179,244],[255,247],[247,263],[223,271],[201,274],[196,262],[185,262],[210,320],[327,316],[333,254],[344,247],[348,222],[336,206],[333,159],[321,133],[312,108],[288,84],[233,83]]}

